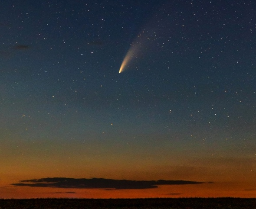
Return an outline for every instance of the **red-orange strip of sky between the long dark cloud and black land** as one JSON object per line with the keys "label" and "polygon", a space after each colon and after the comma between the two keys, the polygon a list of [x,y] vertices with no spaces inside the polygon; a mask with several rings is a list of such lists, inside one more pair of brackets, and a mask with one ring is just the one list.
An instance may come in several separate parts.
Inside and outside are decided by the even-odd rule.
{"label": "red-orange strip of sky between the long dark cloud and black land", "polygon": [[255,190],[244,190],[250,183],[203,183],[196,185],[168,185],[153,189],[105,190],[63,189],[49,187],[6,186],[0,190],[0,198],[182,198],[182,197],[240,197],[256,198]]}

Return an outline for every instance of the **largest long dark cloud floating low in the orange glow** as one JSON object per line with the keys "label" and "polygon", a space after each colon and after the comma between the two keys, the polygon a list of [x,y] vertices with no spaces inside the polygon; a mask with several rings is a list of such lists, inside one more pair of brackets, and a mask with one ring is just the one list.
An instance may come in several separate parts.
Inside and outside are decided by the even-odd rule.
{"label": "largest long dark cloud floating low in the orange glow", "polygon": [[31,187],[57,187],[57,188],[101,188],[101,189],[149,189],[157,188],[156,185],[175,184],[198,184],[203,182],[183,180],[158,180],[158,181],[134,181],[134,180],[113,180],[103,178],[74,179],[74,178],[42,178],[32,180],[21,180],[20,183],[13,183],[14,186]]}

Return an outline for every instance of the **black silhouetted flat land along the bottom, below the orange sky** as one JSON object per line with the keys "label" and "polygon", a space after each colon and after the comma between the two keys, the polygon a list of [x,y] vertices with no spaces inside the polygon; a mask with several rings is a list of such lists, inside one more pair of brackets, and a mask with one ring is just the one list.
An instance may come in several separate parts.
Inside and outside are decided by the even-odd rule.
{"label": "black silhouetted flat land along the bottom, below the orange sky", "polygon": [[0,199],[0,209],[256,209],[255,198]]}

